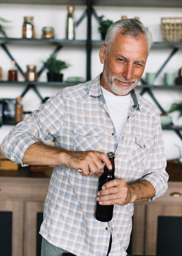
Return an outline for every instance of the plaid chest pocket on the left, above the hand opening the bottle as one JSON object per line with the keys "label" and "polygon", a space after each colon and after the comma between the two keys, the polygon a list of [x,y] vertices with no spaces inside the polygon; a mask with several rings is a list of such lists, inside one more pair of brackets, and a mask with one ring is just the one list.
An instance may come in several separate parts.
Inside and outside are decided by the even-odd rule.
{"label": "plaid chest pocket on the left, above the hand opening the bottle", "polygon": [[102,149],[103,129],[99,126],[74,126],[74,150]]}

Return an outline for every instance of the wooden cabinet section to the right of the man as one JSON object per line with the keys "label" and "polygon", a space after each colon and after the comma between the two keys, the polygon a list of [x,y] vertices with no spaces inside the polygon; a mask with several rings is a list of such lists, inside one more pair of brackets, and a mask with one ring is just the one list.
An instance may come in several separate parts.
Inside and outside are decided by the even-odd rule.
{"label": "wooden cabinet section to the right of the man", "polygon": [[[158,237],[159,220],[168,217],[164,234]],[[176,220],[176,226],[170,228],[170,217]],[[179,219],[176,217],[180,217]],[[132,254],[140,255],[180,255],[182,244],[178,242],[178,220],[182,221],[182,182],[169,182],[167,192],[154,202],[139,202],[134,204]],[[167,231],[166,231],[167,230]],[[175,232],[174,232],[175,230]],[[175,242],[172,243],[171,234]],[[163,240],[165,239],[165,240]],[[157,251],[158,245],[165,244],[163,252]],[[166,248],[168,254],[166,254]],[[172,251],[172,254],[170,252]],[[176,250],[176,251],[175,251]]]}

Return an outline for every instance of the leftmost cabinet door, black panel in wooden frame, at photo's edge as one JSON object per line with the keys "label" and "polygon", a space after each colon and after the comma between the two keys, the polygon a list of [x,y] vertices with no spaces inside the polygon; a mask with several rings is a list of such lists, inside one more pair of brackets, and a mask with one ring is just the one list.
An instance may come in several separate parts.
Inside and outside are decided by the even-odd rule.
{"label": "leftmost cabinet door, black panel in wooden frame, at photo's edge", "polygon": [[[11,253],[12,256],[23,256],[23,202],[0,201],[0,213],[2,216],[0,222],[4,222],[1,223],[1,227],[7,225],[7,229],[5,230],[7,234],[4,233],[4,236],[8,236],[4,238],[6,239],[5,245],[1,244],[3,240],[0,240],[1,253],[2,248],[7,246],[9,252],[4,255]],[[1,235],[3,236],[3,234]],[[12,244],[9,248],[7,243],[11,243],[11,241]]]}

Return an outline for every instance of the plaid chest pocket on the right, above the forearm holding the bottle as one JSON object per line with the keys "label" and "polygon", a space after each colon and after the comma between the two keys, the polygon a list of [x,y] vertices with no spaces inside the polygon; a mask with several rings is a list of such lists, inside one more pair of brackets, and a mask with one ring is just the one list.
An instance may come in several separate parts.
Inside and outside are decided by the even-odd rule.
{"label": "plaid chest pocket on the right, above the forearm holding the bottle", "polygon": [[149,154],[153,147],[153,139],[149,137],[136,137],[131,157],[128,161],[133,169],[145,168]]}

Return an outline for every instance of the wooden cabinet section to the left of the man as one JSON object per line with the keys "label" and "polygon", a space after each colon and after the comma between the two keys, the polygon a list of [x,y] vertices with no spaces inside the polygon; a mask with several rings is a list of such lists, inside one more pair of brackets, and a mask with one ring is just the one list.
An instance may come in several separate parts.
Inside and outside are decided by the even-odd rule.
{"label": "wooden cabinet section to the left of the man", "polygon": [[[12,245],[8,245],[9,254],[7,254],[3,240],[0,240],[1,252],[4,248],[3,252],[6,253],[3,255],[40,255],[37,254],[41,244],[38,230],[42,222],[51,173],[52,168],[44,173],[34,173],[29,168],[20,168],[19,171],[0,171],[0,213],[12,215],[12,222],[7,221],[5,224],[7,229],[11,229],[12,226],[11,236],[4,238],[9,239],[9,243],[12,241]],[[39,222],[38,219],[40,219]],[[4,234],[0,236],[3,237]]]}

